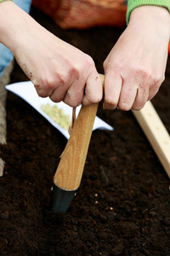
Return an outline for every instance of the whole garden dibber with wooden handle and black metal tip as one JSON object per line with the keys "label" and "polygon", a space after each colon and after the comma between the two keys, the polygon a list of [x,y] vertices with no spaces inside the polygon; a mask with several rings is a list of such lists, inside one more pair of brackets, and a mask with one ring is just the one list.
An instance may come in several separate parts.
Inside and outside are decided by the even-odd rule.
{"label": "whole garden dibber with wooden handle and black metal tip", "polygon": [[[99,75],[104,84],[105,76]],[[54,174],[52,212],[66,212],[77,193],[99,103],[82,106]]]}

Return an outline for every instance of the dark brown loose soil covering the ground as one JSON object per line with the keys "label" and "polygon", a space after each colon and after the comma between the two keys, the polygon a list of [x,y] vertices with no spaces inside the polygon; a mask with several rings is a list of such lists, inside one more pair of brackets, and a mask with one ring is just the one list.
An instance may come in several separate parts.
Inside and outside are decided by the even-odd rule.
{"label": "dark brown loose soil covering the ground", "polygon": [[[102,63],[122,30],[63,31],[37,9],[31,15],[59,38]],[[161,50],[161,49],[160,49]],[[11,83],[27,80],[15,63]],[[170,62],[153,99],[170,132]],[[51,187],[66,139],[8,92],[8,144],[0,178],[1,255],[170,255],[169,178],[133,113],[98,116],[115,131],[94,131],[82,183],[68,212],[50,212]]]}

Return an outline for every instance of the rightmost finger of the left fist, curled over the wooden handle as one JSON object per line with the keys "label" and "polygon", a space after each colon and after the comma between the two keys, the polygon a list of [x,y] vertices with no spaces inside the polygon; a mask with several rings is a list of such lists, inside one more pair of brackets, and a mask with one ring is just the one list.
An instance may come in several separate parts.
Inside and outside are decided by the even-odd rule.
{"label": "rightmost finger of the left fist, curled over the wooden handle", "polygon": [[103,96],[102,82],[99,73],[91,73],[86,80],[82,105],[89,106],[100,102]]}

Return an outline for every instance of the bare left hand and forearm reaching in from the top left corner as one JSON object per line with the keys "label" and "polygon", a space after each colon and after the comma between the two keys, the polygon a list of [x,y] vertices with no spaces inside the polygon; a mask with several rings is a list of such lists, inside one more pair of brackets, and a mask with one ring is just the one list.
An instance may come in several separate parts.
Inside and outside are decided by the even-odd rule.
{"label": "bare left hand and forearm reaching in from the top left corner", "polygon": [[1,20],[0,39],[39,96],[71,107],[102,99],[101,80],[90,56],[55,37],[10,1],[0,5]]}

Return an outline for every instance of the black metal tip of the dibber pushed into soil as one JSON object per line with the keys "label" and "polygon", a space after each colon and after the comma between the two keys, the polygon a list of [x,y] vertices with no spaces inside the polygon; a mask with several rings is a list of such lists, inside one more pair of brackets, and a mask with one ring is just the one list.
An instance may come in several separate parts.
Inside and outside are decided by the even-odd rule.
{"label": "black metal tip of the dibber pushed into soil", "polygon": [[56,212],[67,212],[68,208],[71,205],[71,201],[74,196],[77,194],[76,190],[65,190],[60,189],[58,186],[54,184],[53,186],[53,194],[51,199],[51,211]]}

